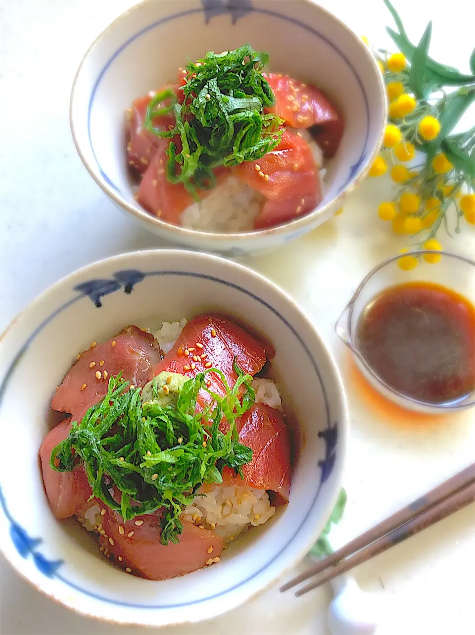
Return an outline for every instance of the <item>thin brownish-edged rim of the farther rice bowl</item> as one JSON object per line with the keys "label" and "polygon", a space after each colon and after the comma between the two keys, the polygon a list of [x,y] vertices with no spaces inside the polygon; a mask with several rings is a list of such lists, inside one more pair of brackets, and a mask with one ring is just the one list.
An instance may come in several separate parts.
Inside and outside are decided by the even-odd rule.
{"label": "thin brownish-edged rim of the farther rice bowl", "polygon": [[[102,189],[102,191],[105,194],[107,194],[107,196],[109,196],[109,198],[112,199],[112,201],[114,201],[114,203],[119,208],[121,208],[124,211],[130,212],[140,222],[144,222],[151,226],[147,229],[150,229],[150,231],[152,232],[157,230],[163,230],[163,232],[167,232],[173,236],[176,236],[176,241],[178,243],[186,239],[188,240],[191,239],[191,241],[193,242],[199,241],[200,239],[207,239],[207,240],[212,240],[217,242],[231,242],[232,241],[234,243],[235,242],[240,243],[241,241],[259,239],[264,236],[279,236],[281,234],[287,234],[289,229],[296,230],[296,233],[297,233],[299,230],[302,230],[306,225],[311,224],[314,218],[323,216],[326,212],[330,211],[332,208],[337,208],[337,207],[339,208],[340,206],[342,206],[347,196],[351,194],[351,192],[354,189],[356,189],[356,187],[358,187],[361,181],[364,180],[366,175],[368,175],[371,165],[373,164],[373,161],[377,157],[377,154],[382,147],[385,123],[387,120],[387,95],[385,90],[384,79],[378,68],[377,60],[371,54],[371,51],[368,48],[368,46],[366,46],[366,44],[363,42],[361,37],[357,36],[356,33],[347,24],[345,24],[345,22],[343,22],[343,20],[340,20],[340,18],[335,16],[333,13],[331,13],[331,11],[328,11],[323,6],[316,4],[314,0],[298,0],[298,1],[311,6],[312,9],[317,12],[321,11],[321,13],[324,13],[331,20],[334,20],[335,22],[337,22],[338,25],[340,25],[340,27],[346,30],[347,37],[351,37],[354,41],[356,41],[357,46],[360,47],[361,51],[365,51],[364,54],[366,55],[366,58],[370,60],[370,65],[373,67],[373,74],[375,75],[375,77],[377,77],[379,97],[383,104],[380,120],[378,121],[378,127],[380,128],[380,131],[377,138],[377,142],[375,146],[373,147],[373,150],[371,152],[368,152],[368,155],[366,156],[365,161],[363,161],[363,164],[359,167],[359,170],[356,171],[351,181],[344,187],[344,189],[341,192],[337,194],[336,197],[331,199],[331,201],[328,201],[328,203],[324,204],[323,206],[318,206],[317,208],[315,208],[308,214],[295,218],[294,220],[291,220],[290,222],[286,222],[281,225],[276,225],[276,227],[269,227],[267,229],[260,229],[257,231],[250,231],[250,232],[218,233],[218,232],[206,232],[206,231],[199,231],[196,229],[189,229],[188,227],[183,227],[182,225],[173,225],[164,220],[161,220],[160,218],[153,216],[151,213],[145,210],[145,208],[142,208],[142,206],[134,206],[133,204],[128,203],[128,201],[125,201],[123,198],[117,196],[116,192],[114,192],[114,189],[110,187],[109,184],[107,184],[107,182],[105,182],[103,178],[100,178],[100,175],[98,174],[97,170],[84,156],[83,150],[81,149],[81,144],[77,138],[77,131],[74,125],[74,98],[76,95],[77,83],[79,81],[79,77],[81,75],[81,71],[86,62],[86,59],[90,55],[93,48],[95,48],[95,46],[97,46],[97,44],[100,43],[102,39],[107,37],[107,34],[109,33],[109,31],[112,30],[113,27],[118,22],[121,22],[122,20],[126,19],[129,15],[131,15],[132,13],[135,13],[135,11],[140,10],[142,6],[144,6],[145,4],[149,4],[151,1],[161,2],[163,0],[142,0],[140,3],[135,4],[134,6],[127,9],[126,11],[123,11],[123,13],[121,13],[116,18],[114,18],[114,20],[112,20],[112,22],[110,22],[110,24],[107,27],[105,27],[105,29],[103,29],[102,32],[100,32],[100,34],[98,34],[98,36],[93,40],[93,42],[90,44],[90,46],[84,53],[72,83],[72,88],[71,88],[70,98],[69,98],[69,125],[70,125],[72,138],[77,150],[77,154],[79,154],[79,157],[81,158],[81,161],[83,162],[84,167],[86,168],[88,173],[91,175],[91,177],[95,180],[95,182],[100,187],[100,189]],[[157,233],[161,233],[161,232],[157,231]]]}

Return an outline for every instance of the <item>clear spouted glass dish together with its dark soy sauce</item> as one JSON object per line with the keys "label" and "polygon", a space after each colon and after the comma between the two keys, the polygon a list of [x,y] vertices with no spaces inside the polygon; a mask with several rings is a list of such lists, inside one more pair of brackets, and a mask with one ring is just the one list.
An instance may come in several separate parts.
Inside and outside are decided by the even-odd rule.
{"label": "clear spouted glass dish together with its dark soy sauce", "polygon": [[[440,262],[425,255],[438,254]],[[475,262],[413,251],[411,271],[388,258],[361,281],[335,330],[371,385],[399,405],[444,413],[475,405]]]}

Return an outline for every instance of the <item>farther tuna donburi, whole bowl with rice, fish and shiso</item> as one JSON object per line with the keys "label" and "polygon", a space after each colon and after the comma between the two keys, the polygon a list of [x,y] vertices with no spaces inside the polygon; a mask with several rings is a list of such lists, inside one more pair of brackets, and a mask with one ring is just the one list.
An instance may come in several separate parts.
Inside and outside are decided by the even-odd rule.
{"label": "farther tuna donburi, whole bowl with rice, fish and shiso", "polygon": [[307,0],[180,9],[142,3],[86,53],[70,102],[84,165],[144,227],[193,248],[238,255],[310,231],[382,142],[370,51]]}

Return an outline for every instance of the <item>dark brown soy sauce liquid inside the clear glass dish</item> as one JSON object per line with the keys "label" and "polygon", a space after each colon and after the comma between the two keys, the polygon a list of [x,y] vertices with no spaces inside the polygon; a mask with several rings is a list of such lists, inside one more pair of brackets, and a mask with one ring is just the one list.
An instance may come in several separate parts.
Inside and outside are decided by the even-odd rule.
{"label": "dark brown soy sauce liquid inside the clear glass dish", "polygon": [[475,307],[439,284],[382,291],[356,325],[356,344],[396,391],[425,403],[458,403],[475,389]]}

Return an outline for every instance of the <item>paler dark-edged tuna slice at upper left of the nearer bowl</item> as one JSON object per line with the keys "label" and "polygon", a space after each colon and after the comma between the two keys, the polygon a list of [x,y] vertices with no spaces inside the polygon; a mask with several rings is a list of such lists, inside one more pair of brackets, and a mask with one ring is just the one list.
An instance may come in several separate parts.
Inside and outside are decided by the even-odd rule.
{"label": "paler dark-edged tuna slice at upper left of the nearer bowl", "polygon": [[[151,333],[127,326],[116,337],[81,353],[53,397],[51,408],[69,412],[80,421],[88,408],[106,394],[110,375],[122,371],[124,379],[143,386],[151,367],[161,358],[160,347]],[[100,373],[100,378],[96,373]]]}

